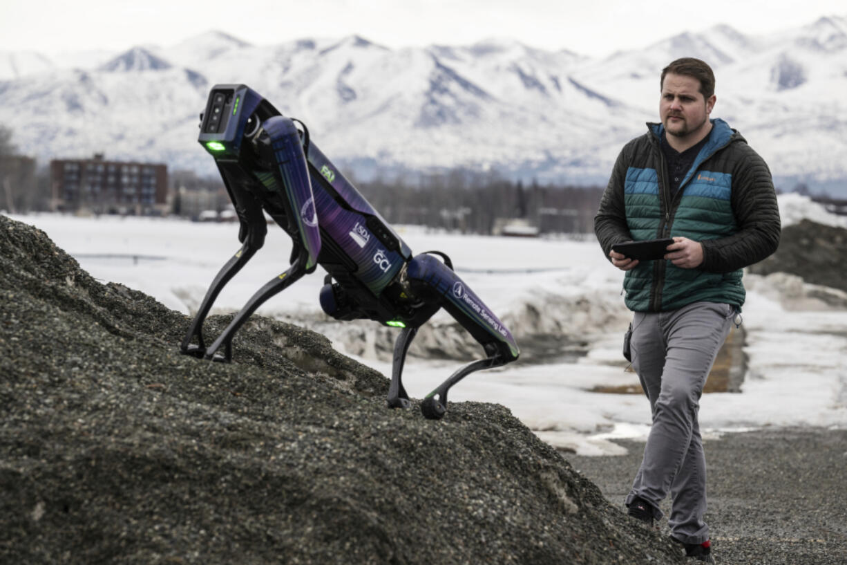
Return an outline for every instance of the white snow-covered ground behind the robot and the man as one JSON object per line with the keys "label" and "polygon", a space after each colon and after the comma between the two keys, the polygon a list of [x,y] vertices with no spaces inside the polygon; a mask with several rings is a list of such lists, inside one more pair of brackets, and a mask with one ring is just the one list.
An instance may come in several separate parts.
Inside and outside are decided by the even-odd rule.
{"label": "white snow-covered ground behind the robot and the man", "polygon": [[[847,227],[844,218],[828,215],[796,194],[780,197],[780,208],[783,226],[808,217]],[[235,224],[64,215],[14,219],[47,232],[93,277],[137,288],[186,314],[240,247]],[[619,452],[611,438],[645,437],[650,410],[643,396],[590,392],[598,385],[638,383],[633,372],[624,371],[620,355],[630,316],[621,295],[623,273],[602,257],[594,238],[491,238],[420,227],[401,227],[398,232],[414,252],[439,249],[450,255],[460,276],[507,323],[524,349],[511,366],[473,373],[458,383],[450,401],[501,403],[551,445],[585,455]],[[289,238],[270,229],[265,247],[224,288],[216,310],[238,310],[264,282],[285,271],[290,249]],[[270,299],[259,313],[319,320],[323,278],[318,269]],[[700,426],[706,437],[763,427],[847,427],[847,310],[824,305],[813,293],[806,297],[811,287],[796,277],[747,275],[745,283],[749,369],[740,393],[703,395]],[[847,295],[844,299],[847,304]],[[441,312],[431,323],[449,322]],[[361,325],[332,322],[324,327],[332,329],[330,338],[340,350],[358,353],[360,361],[390,375],[385,355],[373,347],[352,351],[351,339],[343,338],[347,327],[356,327],[350,333],[353,340],[359,339]],[[529,336],[535,333],[561,335],[563,343],[587,343],[588,354],[552,355],[539,362],[528,353],[534,351]],[[458,365],[410,357],[403,382],[409,394],[421,398]]]}

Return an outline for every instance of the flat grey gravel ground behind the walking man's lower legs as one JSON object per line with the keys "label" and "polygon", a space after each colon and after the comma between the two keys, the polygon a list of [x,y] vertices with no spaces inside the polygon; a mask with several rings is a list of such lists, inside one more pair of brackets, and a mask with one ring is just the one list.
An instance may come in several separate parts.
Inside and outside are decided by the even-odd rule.
{"label": "flat grey gravel ground behind the walking man's lower legs", "polygon": [[[618,443],[628,455],[567,458],[623,509],[644,444]],[[847,430],[764,429],[705,448],[706,522],[720,565],[847,563]]]}

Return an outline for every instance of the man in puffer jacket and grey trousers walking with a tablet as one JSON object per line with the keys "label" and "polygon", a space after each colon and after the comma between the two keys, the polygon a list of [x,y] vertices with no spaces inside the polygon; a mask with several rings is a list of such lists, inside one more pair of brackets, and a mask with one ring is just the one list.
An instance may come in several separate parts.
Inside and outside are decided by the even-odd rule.
{"label": "man in puffer jacket and grey trousers walking with a tablet", "polygon": [[[777,249],[779,211],[764,160],[738,131],[709,117],[716,101],[709,65],[677,59],[660,85],[662,123],[647,124],[618,155],[595,233],[612,265],[626,271],[630,358],[653,415],[628,514],[652,527],[670,494],[673,540],[713,563],[698,402],[745,301],[741,270]],[[673,238],[663,259],[612,250],[651,238]]]}

